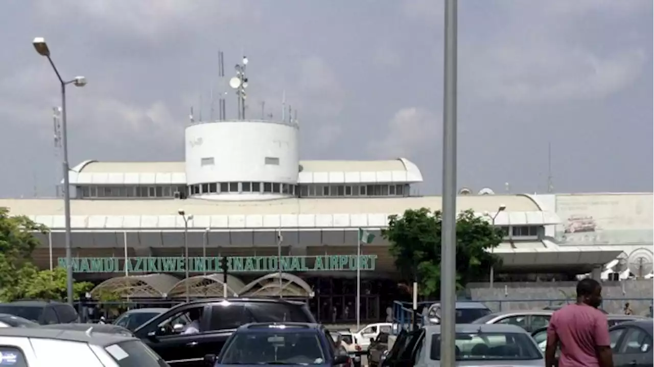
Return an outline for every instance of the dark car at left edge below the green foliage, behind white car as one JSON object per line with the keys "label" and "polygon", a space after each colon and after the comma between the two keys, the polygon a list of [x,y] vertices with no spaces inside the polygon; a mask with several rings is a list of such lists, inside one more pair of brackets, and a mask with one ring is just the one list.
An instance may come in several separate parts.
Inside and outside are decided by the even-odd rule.
{"label": "dark car at left edge below the green foliage, behind white car", "polygon": [[41,325],[77,323],[79,317],[73,306],[49,300],[20,300],[0,304],[0,313],[20,316]]}

